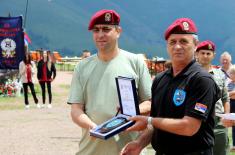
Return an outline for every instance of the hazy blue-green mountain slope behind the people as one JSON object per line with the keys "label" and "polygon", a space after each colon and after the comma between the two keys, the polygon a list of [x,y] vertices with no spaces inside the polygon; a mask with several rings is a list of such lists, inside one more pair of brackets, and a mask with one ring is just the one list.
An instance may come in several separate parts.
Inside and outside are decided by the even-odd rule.
{"label": "hazy blue-green mountain slope behind the people", "polygon": [[[26,31],[31,49],[48,48],[62,55],[80,55],[83,49],[95,52],[92,35],[87,31],[91,15],[99,9],[115,9],[121,15],[123,34],[120,47],[148,56],[167,57],[164,31],[179,17],[192,18],[199,39],[217,45],[217,57],[235,51],[235,3],[233,0],[28,0]],[[14,4],[14,5],[12,5]],[[0,16],[25,13],[25,1],[1,0]],[[234,55],[233,55],[234,56]]]}

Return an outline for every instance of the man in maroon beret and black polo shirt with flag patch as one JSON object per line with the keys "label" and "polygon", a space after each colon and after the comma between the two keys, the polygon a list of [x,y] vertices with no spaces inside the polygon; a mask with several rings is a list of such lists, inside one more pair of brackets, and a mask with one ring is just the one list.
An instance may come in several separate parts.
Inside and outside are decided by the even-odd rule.
{"label": "man in maroon beret and black polo shirt with flag patch", "polygon": [[130,118],[136,122],[128,131],[144,131],[121,154],[139,154],[151,141],[157,155],[212,155],[219,88],[194,60],[197,28],[189,18],[177,19],[165,39],[172,68],[154,79],[151,117]]}

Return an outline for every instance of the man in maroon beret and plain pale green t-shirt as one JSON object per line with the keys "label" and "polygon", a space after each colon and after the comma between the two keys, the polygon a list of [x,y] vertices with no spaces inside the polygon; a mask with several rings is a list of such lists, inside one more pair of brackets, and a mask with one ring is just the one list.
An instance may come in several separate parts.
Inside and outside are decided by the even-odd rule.
{"label": "man in maroon beret and plain pale green t-shirt", "polygon": [[120,16],[114,10],[95,13],[88,29],[92,31],[97,54],[76,66],[68,104],[71,117],[82,128],[78,155],[117,155],[132,140],[133,133],[121,133],[108,140],[92,138],[89,130],[114,117],[119,106],[115,77],[134,78],[140,112],[150,112],[151,77],[138,55],[118,47]]}

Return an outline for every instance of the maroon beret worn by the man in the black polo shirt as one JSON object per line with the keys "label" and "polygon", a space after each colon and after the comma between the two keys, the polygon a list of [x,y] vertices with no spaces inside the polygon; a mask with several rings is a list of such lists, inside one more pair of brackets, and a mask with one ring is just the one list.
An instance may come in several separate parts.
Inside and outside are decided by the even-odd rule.
{"label": "maroon beret worn by the man in the black polo shirt", "polygon": [[179,18],[175,20],[166,30],[165,39],[171,34],[196,34],[197,27],[190,18]]}

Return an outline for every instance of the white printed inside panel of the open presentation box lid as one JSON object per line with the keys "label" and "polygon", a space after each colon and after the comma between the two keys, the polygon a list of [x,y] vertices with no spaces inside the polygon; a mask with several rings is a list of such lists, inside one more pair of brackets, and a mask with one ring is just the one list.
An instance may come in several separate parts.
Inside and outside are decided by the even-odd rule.
{"label": "white printed inside panel of the open presentation box lid", "polygon": [[118,84],[119,84],[123,114],[131,116],[137,115],[131,80],[118,79]]}

